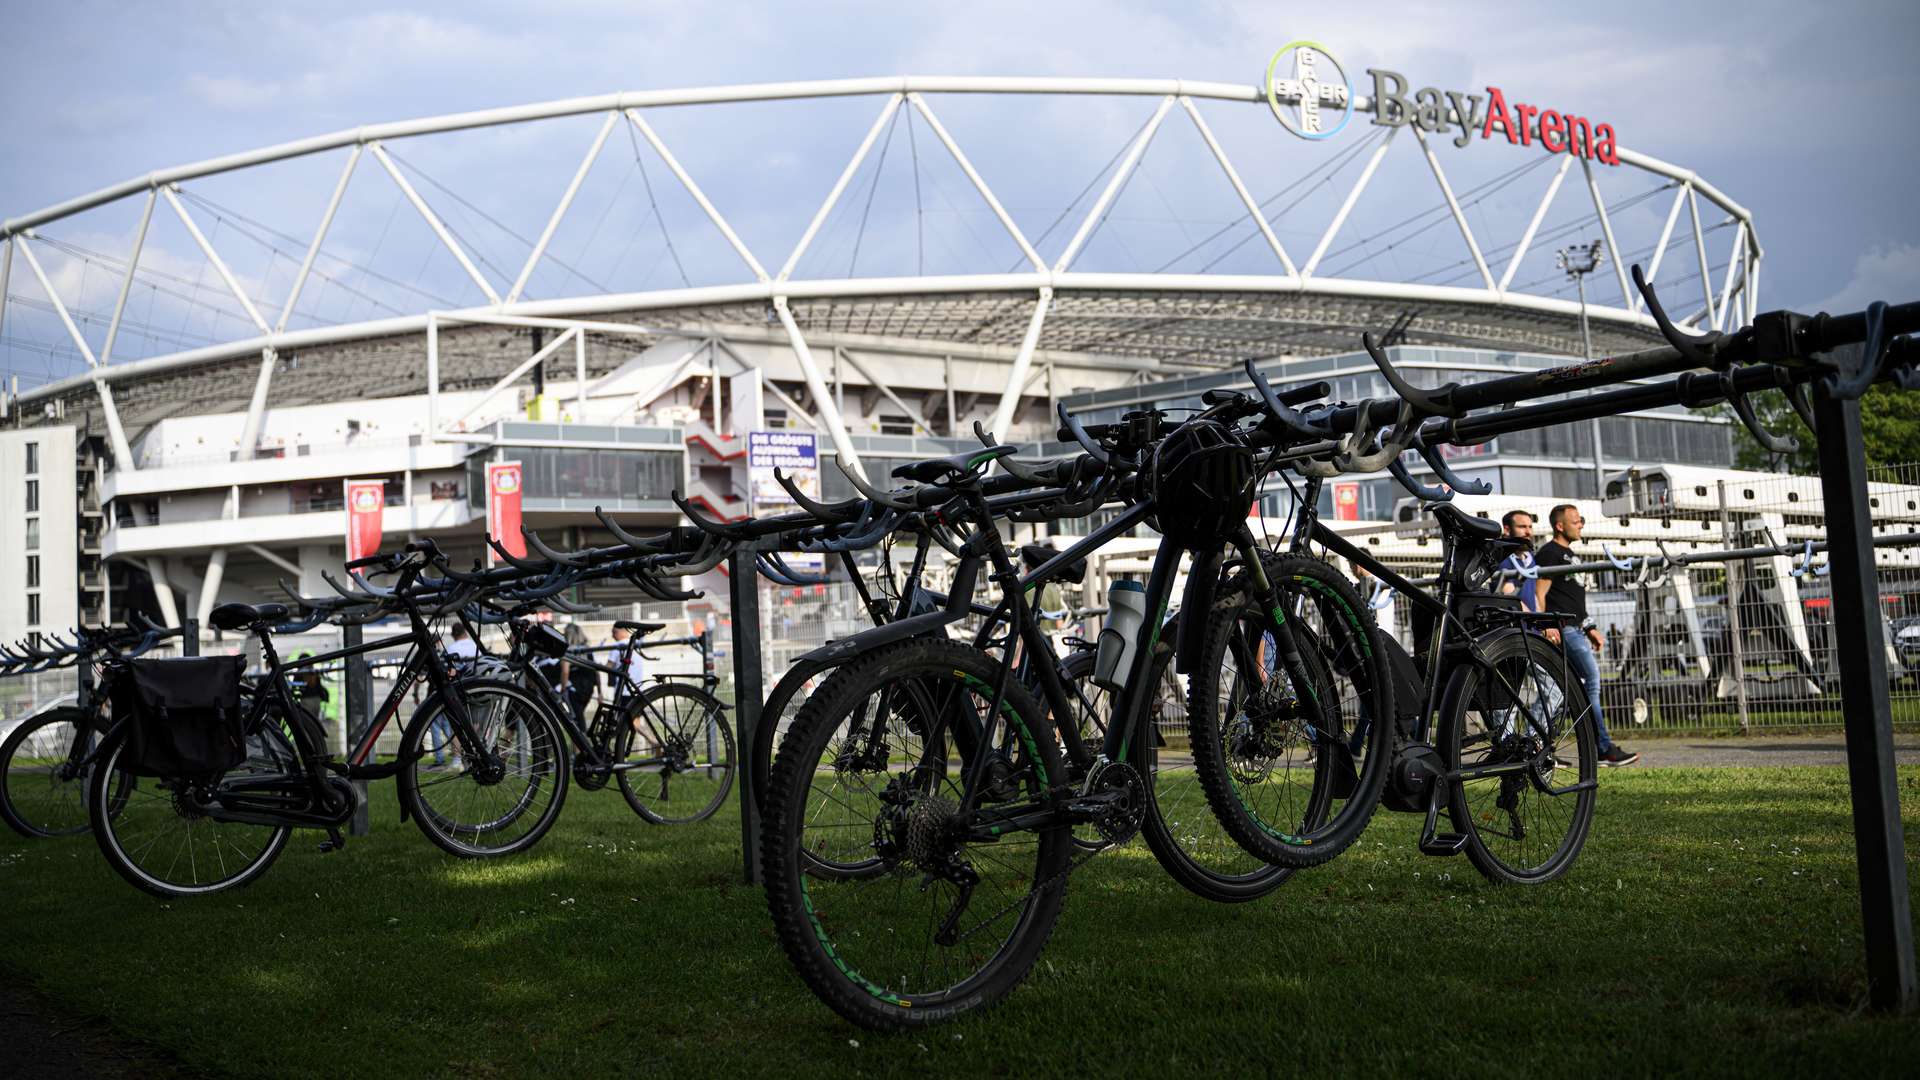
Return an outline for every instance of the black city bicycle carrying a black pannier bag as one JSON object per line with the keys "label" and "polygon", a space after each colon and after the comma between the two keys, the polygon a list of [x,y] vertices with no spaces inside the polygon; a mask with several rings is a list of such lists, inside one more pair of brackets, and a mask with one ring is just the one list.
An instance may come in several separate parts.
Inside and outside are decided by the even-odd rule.
{"label": "black city bicycle carrying a black pannier bag", "polygon": [[[509,855],[545,836],[566,798],[563,736],[522,688],[451,676],[422,600],[409,594],[419,573],[430,565],[430,553],[436,553],[432,542],[417,540],[403,553],[348,563],[349,571],[399,575],[396,588],[378,596],[386,611],[407,617],[409,628],[374,642],[282,661],[273,648],[276,630],[311,628],[326,617],[344,615],[346,607],[309,601],[311,615],[303,625],[286,623],[290,609],[284,603],[223,603],[213,609],[209,625],[252,634],[265,665],[244,701],[244,761],[227,769],[146,774],[142,763],[127,753],[129,728],[159,721],[129,717],[106,736],[86,807],[94,840],[115,872],[154,896],[192,897],[257,880],[286,847],[294,828],[324,830],[321,851],[338,851],[346,847],[340,826],[353,817],[361,798],[353,780],[397,778],[401,817],[413,819],[434,846],[451,855]],[[365,578],[355,573],[355,580]],[[294,700],[288,673],[396,646],[407,646],[407,659],[392,690],[346,761],[334,761],[319,721]],[[109,675],[117,682],[131,676],[129,665],[117,665]],[[238,680],[238,671],[225,675],[209,665],[207,676],[213,684],[205,692],[213,694],[225,690],[219,686],[223,678]],[[430,692],[407,721],[397,757],[372,763],[380,732],[422,678]],[[117,700],[129,701],[132,711],[144,705],[131,694]],[[430,773],[422,767],[422,740],[436,721],[451,726],[465,759],[461,771]],[[131,792],[125,809],[113,813],[111,792],[119,784],[129,784]]]}

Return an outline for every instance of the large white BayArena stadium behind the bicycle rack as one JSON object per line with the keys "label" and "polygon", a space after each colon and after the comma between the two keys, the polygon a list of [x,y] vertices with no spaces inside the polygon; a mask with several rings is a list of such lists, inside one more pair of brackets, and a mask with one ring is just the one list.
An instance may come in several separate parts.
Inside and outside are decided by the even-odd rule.
{"label": "large white BayArena stadium behind the bicycle rack", "polygon": [[[1636,261],[1688,327],[1759,309],[1751,213],[1632,131],[1336,52],[1290,44],[1250,85],[883,77],[367,123],[12,215],[0,332],[48,375],[6,396],[0,496],[29,513],[0,636],[323,594],[346,480],[384,482],[386,538],[478,555],[486,465],[518,461],[522,521],[584,544],[595,505],[660,525],[674,490],[751,513],[755,432],[812,436],[837,494],[828,457],[876,475],[975,421],[1046,442],[1060,402],[1181,407],[1246,357],[1357,398],[1361,331],[1432,382],[1647,348]],[[513,194],[534,171],[547,194]],[[311,215],[265,219],[269,190]],[[1469,450],[1498,490],[1567,498],[1734,455],[1684,409]],[[1390,519],[1386,484],[1338,517]]]}

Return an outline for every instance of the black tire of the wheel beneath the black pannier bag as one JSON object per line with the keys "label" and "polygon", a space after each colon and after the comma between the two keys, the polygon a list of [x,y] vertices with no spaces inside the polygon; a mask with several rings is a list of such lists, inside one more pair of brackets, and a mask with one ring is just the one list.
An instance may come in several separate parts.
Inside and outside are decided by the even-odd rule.
{"label": "black tire of the wheel beneath the black pannier bag", "polygon": [[[100,746],[98,765],[86,784],[88,824],[92,826],[94,842],[100,846],[100,853],[106,857],[108,865],[113,867],[113,872],[140,892],[163,899],[211,896],[244,888],[259,880],[259,876],[273,867],[275,859],[280,857],[280,851],[286,849],[286,842],[294,834],[294,828],[290,824],[263,826],[207,822],[205,817],[190,817],[179,807],[179,784],[182,780],[163,776],[131,776],[119,769],[121,751],[127,748],[127,734],[129,732],[121,728],[106,736],[106,742]],[[298,765],[300,761],[292,742],[288,742],[286,734],[276,724],[265,724],[259,732],[250,734],[248,742],[257,744],[255,751],[250,751],[248,759],[265,763],[275,771],[284,771],[290,763]],[[232,776],[234,773],[238,771],[228,771],[221,776],[221,780]],[[125,782],[131,782],[129,788],[125,792],[115,792],[123,778]],[[115,801],[119,805],[115,805]],[[173,824],[169,815],[184,824]],[[234,851],[240,857],[240,867],[230,872],[227,871],[227,859],[219,847],[219,840],[209,838],[221,876],[200,882],[200,855],[196,853],[194,844],[194,830],[200,828],[200,822],[207,822],[205,828],[221,828],[223,824],[250,830],[265,828],[267,836],[265,842],[250,853],[248,849],[234,846],[232,834],[227,834],[228,844],[234,846]],[[171,846],[173,861],[165,872],[171,874],[179,867],[179,853],[184,847],[188,855],[188,872],[196,880],[186,884],[173,882],[156,874],[142,863],[146,853],[161,846],[165,840],[163,830],[167,828],[179,832],[180,840]],[[156,832],[154,840],[140,844],[136,838],[144,836],[144,832]]]}

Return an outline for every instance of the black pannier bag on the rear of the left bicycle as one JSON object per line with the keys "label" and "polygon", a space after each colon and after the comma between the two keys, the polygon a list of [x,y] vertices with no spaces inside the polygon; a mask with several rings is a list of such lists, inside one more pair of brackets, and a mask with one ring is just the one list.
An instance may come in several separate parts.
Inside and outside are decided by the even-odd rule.
{"label": "black pannier bag on the rear of the left bicycle", "polygon": [[196,776],[246,761],[244,671],[238,655],[127,661],[113,682],[113,715],[129,719],[121,767]]}

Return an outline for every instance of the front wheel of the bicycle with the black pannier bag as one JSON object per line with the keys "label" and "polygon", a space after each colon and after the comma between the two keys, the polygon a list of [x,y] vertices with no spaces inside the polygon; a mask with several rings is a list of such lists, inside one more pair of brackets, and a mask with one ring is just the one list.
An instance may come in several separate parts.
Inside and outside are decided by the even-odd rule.
{"label": "front wheel of the bicycle with the black pannier bag", "polygon": [[[399,801],[436,847],[463,859],[526,851],[566,803],[566,736],[526,690],[492,678],[453,684],[478,744],[428,698],[399,740]],[[436,765],[426,738],[447,721],[453,755]]]}

